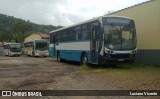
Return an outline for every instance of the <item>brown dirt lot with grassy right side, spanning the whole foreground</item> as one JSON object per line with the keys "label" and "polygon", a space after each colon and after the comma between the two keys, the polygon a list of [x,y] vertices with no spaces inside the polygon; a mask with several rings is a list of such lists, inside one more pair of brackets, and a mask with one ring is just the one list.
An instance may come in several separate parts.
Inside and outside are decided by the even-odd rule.
{"label": "brown dirt lot with grassy right side, spanning the whole foreground", "polygon": [[0,57],[0,89],[160,90],[159,71],[160,68],[86,69],[75,63],[60,63],[50,57]]}

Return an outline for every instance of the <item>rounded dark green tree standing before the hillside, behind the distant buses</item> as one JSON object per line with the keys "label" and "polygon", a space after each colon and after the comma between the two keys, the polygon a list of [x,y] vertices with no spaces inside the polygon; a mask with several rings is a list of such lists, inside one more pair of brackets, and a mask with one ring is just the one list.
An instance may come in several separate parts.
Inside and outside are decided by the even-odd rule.
{"label": "rounded dark green tree standing before the hillside, behind the distant buses", "polygon": [[19,20],[15,22],[11,27],[11,34],[13,40],[17,43],[22,43],[26,36],[32,31],[31,23]]}

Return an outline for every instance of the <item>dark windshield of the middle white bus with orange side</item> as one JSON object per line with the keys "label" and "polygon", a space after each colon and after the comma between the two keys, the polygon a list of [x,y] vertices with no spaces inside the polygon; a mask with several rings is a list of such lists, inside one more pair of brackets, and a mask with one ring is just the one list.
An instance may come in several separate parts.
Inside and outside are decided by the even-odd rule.
{"label": "dark windshield of the middle white bus with orange side", "polygon": [[36,46],[35,46],[36,50],[48,50],[48,43],[47,42],[36,42]]}

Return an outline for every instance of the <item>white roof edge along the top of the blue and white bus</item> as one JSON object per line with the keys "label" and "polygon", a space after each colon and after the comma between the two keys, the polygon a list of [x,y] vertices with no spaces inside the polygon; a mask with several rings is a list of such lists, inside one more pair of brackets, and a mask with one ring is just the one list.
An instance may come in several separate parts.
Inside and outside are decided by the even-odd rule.
{"label": "white roof edge along the top of the blue and white bus", "polygon": [[93,18],[93,19],[90,19],[90,20],[87,20],[87,21],[84,21],[84,22],[81,22],[81,23],[78,23],[78,24],[74,24],[74,25],[71,25],[71,26],[67,26],[67,27],[64,27],[64,28],[53,30],[50,33],[54,33],[54,32],[60,31],[60,30],[64,30],[64,29],[68,29],[70,27],[82,25],[82,24],[85,24],[85,23],[88,23],[88,22],[92,22],[92,21],[96,21],[96,20],[101,20],[103,17],[126,18],[126,19],[133,20],[133,19],[131,19],[129,17],[124,17],[124,16],[112,16],[112,15],[109,15],[109,16],[99,16],[99,17],[96,17],[96,18]]}

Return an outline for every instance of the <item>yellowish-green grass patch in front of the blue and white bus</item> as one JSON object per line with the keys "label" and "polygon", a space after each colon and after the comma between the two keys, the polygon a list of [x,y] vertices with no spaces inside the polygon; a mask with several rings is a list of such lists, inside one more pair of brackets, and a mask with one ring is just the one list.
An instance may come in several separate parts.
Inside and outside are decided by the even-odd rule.
{"label": "yellowish-green grass patch in front of the blue and white bus", "polygon": [[[160,88],[160,67],[155,65],[120,64],[114,67],[82,66],[80,73],[100,85],[127,90]],[[96,80],[94,82],[96,82]],[[106,87],[108,89],[108,86]]]}

